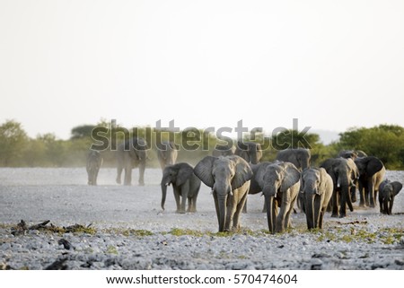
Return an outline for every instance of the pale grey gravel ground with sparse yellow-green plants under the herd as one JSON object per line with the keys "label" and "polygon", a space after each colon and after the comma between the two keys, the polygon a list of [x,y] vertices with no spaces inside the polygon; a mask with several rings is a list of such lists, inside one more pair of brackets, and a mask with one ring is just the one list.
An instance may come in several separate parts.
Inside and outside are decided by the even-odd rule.
{"label": "pale grey gravel ground with sparse yellow-green plants under the herd", "polygon": [[[323,231],[307,231],[297,213],[294,229],[277,235],[267,233],[263,198],[249,196],[242,231],[223,234],[206,186],[196,214],[175,214],[171,193],[160,208],[161,170],[146,170],[144,187],[116,185],[115,173],[101,169],[99,186],[89,187],[85,169],[0,169],[0,269],[404,268],[403,191],[391,216],[356,208],[344,219],[327,214]],[[404,171],[387,177],[404,182]],[[19,231],[21,220],[50,220],[45,227],[58,231]],[[75,224],[91,226],[60,229]]]}

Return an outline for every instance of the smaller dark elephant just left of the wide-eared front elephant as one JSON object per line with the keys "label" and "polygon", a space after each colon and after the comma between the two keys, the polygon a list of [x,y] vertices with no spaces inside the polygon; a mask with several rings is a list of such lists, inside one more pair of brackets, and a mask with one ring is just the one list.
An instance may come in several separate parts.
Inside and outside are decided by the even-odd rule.
{"label": "smaller dark elephant just left of the wide-eared front elephant", "polygon": [[168,165],[162,172],[162,210],[164,210],[167,187],[172,184],[177,213],[184,214],[185,202],[188,199],[187,212],[197,212],[197,197],[201,181],[194,174],[194,169],[189,163],[180,162]]}

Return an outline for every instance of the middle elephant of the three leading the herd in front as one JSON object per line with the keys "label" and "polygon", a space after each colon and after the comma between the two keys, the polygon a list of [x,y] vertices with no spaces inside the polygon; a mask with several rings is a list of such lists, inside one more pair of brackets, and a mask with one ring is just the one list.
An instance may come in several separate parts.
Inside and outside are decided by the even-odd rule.
{"label": "middle elephant of the three leading the herd in front", "polygon": [[[264,162],[259,164],[254,182],[265,196],[268,230],[271,233],[282,232],[291,227],[290,214],[300,189],[299,170],[290,162]],[[254,189],[257,189],[256,184]]]}

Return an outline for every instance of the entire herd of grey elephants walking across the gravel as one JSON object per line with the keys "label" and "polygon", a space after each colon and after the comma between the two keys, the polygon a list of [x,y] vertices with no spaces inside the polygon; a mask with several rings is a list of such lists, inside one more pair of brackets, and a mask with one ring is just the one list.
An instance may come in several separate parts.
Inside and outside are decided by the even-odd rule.
{"label": "entire herd of grey elephants walking across the gravel", "polygon": [[[239,141],[235,147],[216,146],[212,155],[192,167],[186,162],[176,163],[175,144],[164,142],[157,148],[162,167],[162,210],[167,187],[172,185],[176,212],[196,212],[203,182],[212,188],[219,231],[240,229],[249,194],[262,193],[268,230],[275,233],[291,227],[290,215],[295,212],[295,205],[306,215],[308,229],[321,229],[327,211],[332,217],[345,217],[347,207],[354,211],[356,191],[359,205],[369,207],[376,205],[379,192],[380,212],[391,214],[394,196],[402,188],[400,182],[384,179],[385,168],[380,159],[363,152],[342,151],[337,158],[323,161],[320,167],[311,167],[308,149],[286,149],[277,153],[275,161],[260,161],[259,144]],[[117,150],[117,182],[125,170],[124,185],[130,185],[132,169],[138,166],[139,185],[144,185],[146,159],[144,139],[133,138],[121,144]],[[89,185],[96,185],[100,167],[100,153],[92,151],[87,158]]]}

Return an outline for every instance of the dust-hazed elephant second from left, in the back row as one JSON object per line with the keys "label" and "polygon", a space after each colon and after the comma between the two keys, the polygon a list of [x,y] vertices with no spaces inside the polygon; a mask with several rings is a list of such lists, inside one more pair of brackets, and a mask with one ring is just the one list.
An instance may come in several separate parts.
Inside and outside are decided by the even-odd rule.
{"label": "dust-hazed elephant second from left, in the back row", "polygon": [[124,185],[132,184],[132,169],[139,167],[139,185],[145,185],[145,162],[147,143],[143,138],[132,138],[119,144],[117,149],[117,183],[120,184],[122,170],[125,170]]}

